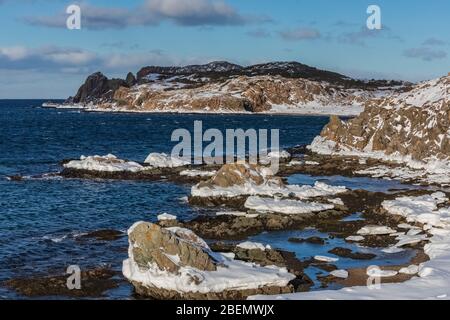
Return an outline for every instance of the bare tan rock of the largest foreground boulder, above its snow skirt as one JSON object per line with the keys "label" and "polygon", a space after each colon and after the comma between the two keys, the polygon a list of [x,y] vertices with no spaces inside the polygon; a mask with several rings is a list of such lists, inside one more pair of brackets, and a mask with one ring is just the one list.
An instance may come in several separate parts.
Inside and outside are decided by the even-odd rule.
{"label": "bare tan rock of the largest foreground boulder, above its snow skirt", "polygon": [[160,270],[176,273],[180,267],[214,271],[216,262],[194,233],[174,233],[152,223],[140,223],[129,234],[136,263],[145,268],[156,263]]}

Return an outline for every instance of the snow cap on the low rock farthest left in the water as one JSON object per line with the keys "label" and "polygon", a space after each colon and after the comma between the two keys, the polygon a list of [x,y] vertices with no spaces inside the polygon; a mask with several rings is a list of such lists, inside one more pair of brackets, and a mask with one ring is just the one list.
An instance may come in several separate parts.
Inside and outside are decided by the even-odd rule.
{"label": "snow cap on the low rock farthest left in the water", "polygon": [[89,170],[99,172],[139,172],[144,167],[133,161],[118,159],[113,154],[106,156],[81,156],[80,160],[72,160],[64,164],[66,169]]}

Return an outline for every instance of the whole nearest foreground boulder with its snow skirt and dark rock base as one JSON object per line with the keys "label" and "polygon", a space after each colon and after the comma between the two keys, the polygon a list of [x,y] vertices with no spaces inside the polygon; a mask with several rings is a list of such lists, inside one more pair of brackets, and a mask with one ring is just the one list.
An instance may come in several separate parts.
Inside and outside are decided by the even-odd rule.
{"label": "whole nearest foreground boulder with its snow skirt and dark rock base", "polygon": [[234,260],[211,251],[189,229],[137,222],[129,230],[122,272],[138,295],[152,299],[241,300],[292,293],[286,268]]}

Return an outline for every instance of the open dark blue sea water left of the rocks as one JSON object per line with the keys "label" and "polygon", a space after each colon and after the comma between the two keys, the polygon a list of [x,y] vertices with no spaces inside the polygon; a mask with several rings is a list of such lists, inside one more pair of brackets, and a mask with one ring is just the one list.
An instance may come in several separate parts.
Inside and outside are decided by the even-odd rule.
{"label": "open dark blue sea water left of the rocks", "polygon": [[[113,153],[143,161],[150,152],[170,152],[174,129],[280,129],[282,146],[312,141],[327,117],[85,113],[43,109],[43,101],[0,100],[0,283],[13,277],[111,265],[120,270],[127,239],[80,240],[99,229],[126,230],[162,212],[191,219],[198,212],[184,202],[190,186],[169,182],[26,179],[59,171],[63,159]],[[110,292],[128,297],[130,287]],[[0,285],[0,297],[17,295]],[[19,297],[20,298],[20,297]]]}

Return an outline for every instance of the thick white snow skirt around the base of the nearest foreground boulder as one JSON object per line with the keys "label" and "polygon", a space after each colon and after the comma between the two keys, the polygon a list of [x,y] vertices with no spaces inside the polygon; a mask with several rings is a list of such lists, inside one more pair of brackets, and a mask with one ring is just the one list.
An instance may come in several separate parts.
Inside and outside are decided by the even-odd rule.
{"label": "thick white snow skirt around the base of the nearest foreground boulder", "polygon": [[[129,234],[133,227],[128,231]],[[168,230],[181,232],[180,228],[168,228]],[[233,260],[222,254],[219,254],[221,265],[217,267],[216,271],[181,267],[176,275],[160,270],[156,264],[149,264],[148,268],[141,269],[134,261],[131,244],[128,255],[129,258],[123,261],[122,266],[125,278],[143,286],[174,290],[180,293],[222,292],[225,290],[257,289],[264,286],[284,287],[295,278],[286,268],[261,267],[254,263]]]}

